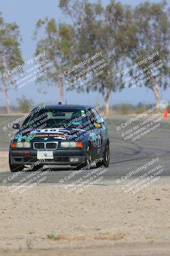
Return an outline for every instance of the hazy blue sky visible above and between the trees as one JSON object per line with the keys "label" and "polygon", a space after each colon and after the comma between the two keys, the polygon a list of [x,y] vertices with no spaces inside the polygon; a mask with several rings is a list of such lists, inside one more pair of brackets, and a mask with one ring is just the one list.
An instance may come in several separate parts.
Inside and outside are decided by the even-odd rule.
{"label": "hazy blue sky visible above and between the trees", "polygon": [[[95,2],[91,1],[91,2]],[[102,1],[104,5],[108,4],[109,0]],[[129,4],[127,0],[120,1],[123,4]],[[143,3],[145,1],[131,0],[131,4],[135,6],[138,3]],[[154,3],[159,3],[160,1],[153,1]],[[5,0],[1,1],[0,11],[3,13],[3,18],[6,22],[17,22],[20,27],[20,33],[22,35],[22,54],[24,60],[29,60],[34,55],[36,49],[36,42],[32,40],[32,34],[34,33],[35,24],[38,19],[44,19],[46,16],[49,18],[54,17],[56,20],[61,20],[62,22],[69,22],[69,19],[60,11],[59,0]],[[25,95],[27,99],[32,99],[36,104],[38,102],[45,102],[46,104],[55,104],[60,101],[59,91],[57,86],[48,87],[46,93],[38,93],[38,84],[31,83],[24,88],[19,89],[17,92],[15,90],[10,90],[10,100],[11,104],[17,105],[17,98]],[[164,92],[164,100],[170,100],[169,98],[170,90]],[[103,97],[97,92],[89,94],[87,93],[76,93],[67,92],[67,103],[71,104],[91,104],[96,103],[104,104]],[[155,97],[151,90],[146,88],[127,88],[122,90],[122,92],[113,93],[112,103],[132,103],[138,104],[138,102],[152,103],[155,102]],[[4,92],[0,92],[0,105],[5,105]]]}

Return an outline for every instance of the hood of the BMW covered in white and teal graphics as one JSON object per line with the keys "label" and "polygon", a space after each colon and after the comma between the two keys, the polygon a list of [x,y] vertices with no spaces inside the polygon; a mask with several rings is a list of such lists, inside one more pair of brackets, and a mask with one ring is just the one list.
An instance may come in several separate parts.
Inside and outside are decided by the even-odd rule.
{"label": "hood of the BMW covered in white and teal graphics", "polygon": [[17,141],[55,141],[55,140],[76,140],[82,134],[87,132],[83,129],[74,128],[47,128],[47,129],[23,129],[17,132],[15,140]]}

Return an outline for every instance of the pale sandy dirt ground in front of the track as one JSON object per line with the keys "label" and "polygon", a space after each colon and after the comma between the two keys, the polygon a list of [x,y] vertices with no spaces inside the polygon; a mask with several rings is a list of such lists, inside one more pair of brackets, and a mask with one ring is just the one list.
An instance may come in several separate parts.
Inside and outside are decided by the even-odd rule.
{"label": "pale sandy dirt ground in front of the track", "polygon": [[117,184],[0,190],[0,255],[170,255],[169,177],[136,195]]}

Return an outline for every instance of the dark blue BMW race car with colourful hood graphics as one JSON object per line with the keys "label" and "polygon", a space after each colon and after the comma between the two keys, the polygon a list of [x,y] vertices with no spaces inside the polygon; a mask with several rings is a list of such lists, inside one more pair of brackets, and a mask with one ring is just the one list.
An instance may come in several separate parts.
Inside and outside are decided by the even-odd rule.
{"label": "dark blue BMW race car with colourful hood graphics", "polygon": [[[55,105],[34,108],[10,143],[11,172],[25,165],[70,164],[82,168],[100,159],[96,165],[109,166],[110,142],[104,119],[96,108],[81,105]],[[41,164],[35,164],[41,163]]]}

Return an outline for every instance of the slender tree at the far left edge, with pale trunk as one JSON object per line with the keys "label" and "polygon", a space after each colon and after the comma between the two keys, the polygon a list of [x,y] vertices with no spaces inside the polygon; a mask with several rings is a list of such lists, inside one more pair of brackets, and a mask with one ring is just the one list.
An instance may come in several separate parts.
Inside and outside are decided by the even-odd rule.
{"label": "slender tree at the far left edge, with pale trunk", "polygon": [[20,31],[15,22],[6,23],[0,13],[0,90],[4,91],[6,99],[6,111],[11,113],[10,98],[8,95],[8,83],[12,77],[8,76],[7,70],[12,70],[22,62],[20,51]]}

